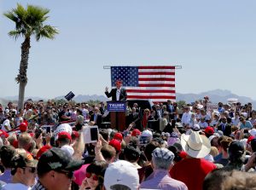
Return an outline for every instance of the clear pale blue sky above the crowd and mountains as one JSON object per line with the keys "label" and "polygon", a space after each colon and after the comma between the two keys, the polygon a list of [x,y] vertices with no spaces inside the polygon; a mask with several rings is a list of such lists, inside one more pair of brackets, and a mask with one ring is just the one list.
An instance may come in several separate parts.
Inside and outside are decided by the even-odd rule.
{"label": "clear pale blue sky above the crowd and mountains", "polygon": [[103,95],[103,66],[183,66],[180,93],[229,89],[256,100],[256,1],[12,1],[0,3],[0,97],[18,95],[20,43],[3,12],[16,3],[50,9],[55,40],[32,40],[26,96]]}

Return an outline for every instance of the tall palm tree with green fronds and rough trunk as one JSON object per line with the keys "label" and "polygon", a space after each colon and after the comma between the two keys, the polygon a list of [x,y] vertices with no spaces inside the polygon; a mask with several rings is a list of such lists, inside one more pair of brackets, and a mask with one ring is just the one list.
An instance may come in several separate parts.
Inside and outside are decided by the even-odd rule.
{"label": "tall palm tree with green fronds and rough trunk", "polygon": [[54,39],[55,34],[58,33],[54,26],[44,25],[44,21],[49,18],[48,13],[49,9],[32,5],[27,5],[25,9],[18,3],[16,9],[11,9],[3,14],[15,22],[15,30],[10,31],[9,36],[14,37],[15,40],[18,37],[24,37],[24,42],[21,43],[20,70],[15,78],[16,82],[20,83],[18,109],[23,108],[31,37],[36,37],[37,41],[42,37]]}

